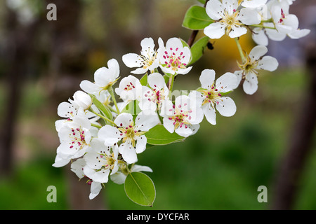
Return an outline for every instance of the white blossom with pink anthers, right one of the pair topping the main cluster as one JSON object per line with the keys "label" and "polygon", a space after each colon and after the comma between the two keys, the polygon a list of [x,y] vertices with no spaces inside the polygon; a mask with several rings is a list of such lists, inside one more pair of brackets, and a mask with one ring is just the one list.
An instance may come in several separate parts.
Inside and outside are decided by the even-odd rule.
{"label": "white blossom with pink anthers, right one of the pair topping the main cluster", "polygon": [[160,68],[164,73],[182,74],[188,73],[192,66],[186,67],[191,59],[191,51],[187,47],[183,47],[183,43],[179,38],[173,37],[166,42],[159,38],[159,59]]}

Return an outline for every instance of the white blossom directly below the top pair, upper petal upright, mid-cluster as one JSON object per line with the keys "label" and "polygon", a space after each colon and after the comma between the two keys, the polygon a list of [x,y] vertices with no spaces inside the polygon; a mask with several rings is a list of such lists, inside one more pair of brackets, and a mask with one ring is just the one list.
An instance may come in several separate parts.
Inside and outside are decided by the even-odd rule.
{"label": "white blossom directly below the top pair, upper petal upright, mid-cluster", "polygon": [[142,111],[153,111],[155,113],[157,109],[161,108],[162,102],[168,99],[169,89],[160,73],[150,74],[147,83],[150,87],[143,86],[139,107]]}

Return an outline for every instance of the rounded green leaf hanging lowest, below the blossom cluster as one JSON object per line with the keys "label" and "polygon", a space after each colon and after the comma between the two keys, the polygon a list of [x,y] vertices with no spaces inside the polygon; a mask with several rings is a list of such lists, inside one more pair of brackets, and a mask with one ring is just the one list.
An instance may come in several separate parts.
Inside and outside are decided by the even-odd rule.
{"label": "rounded green leaf hanging lowest, below the blossom cluster", "polygon": [[132,172],[126,176],[124,189],[127,197],[136,204],[152,207],[156,198],[156,189],[152,179],[146,174]]}

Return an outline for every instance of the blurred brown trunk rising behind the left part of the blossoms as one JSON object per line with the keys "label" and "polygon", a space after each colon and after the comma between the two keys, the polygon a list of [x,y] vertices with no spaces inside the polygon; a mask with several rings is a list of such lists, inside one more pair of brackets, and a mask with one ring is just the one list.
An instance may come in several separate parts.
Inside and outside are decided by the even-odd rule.
{"label": "blurred brown trunk rising behind the left part of the blossoms", "polygon": [[[51,1],[46,1],[51,3]],[[87,46],[81,33],[80,20],[83,2],[81,0],[55,0],[57,21],[48,22],[51,33],[51,64],[49,84],[51,85],[52,106],[56,109],[60,102],[72,98],[88,70]],[[94,200],[89,200],[90,186],[84,180],[78,181],[64,167],[69,181],[70,209],[105,209],[104,189]]]}

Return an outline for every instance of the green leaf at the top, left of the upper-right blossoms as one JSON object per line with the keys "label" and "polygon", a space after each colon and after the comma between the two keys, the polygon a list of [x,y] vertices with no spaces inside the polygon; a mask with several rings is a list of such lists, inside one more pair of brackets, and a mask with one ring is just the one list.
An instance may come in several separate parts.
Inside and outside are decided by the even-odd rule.
{"label": "green leaf at the top, left of the upper-right blossoms", "polygon": [[206,10],[202,6],[191,6],[185,18],[183,19],[183,27],[187,29],[204,29],[214,21],[206,14]]}

